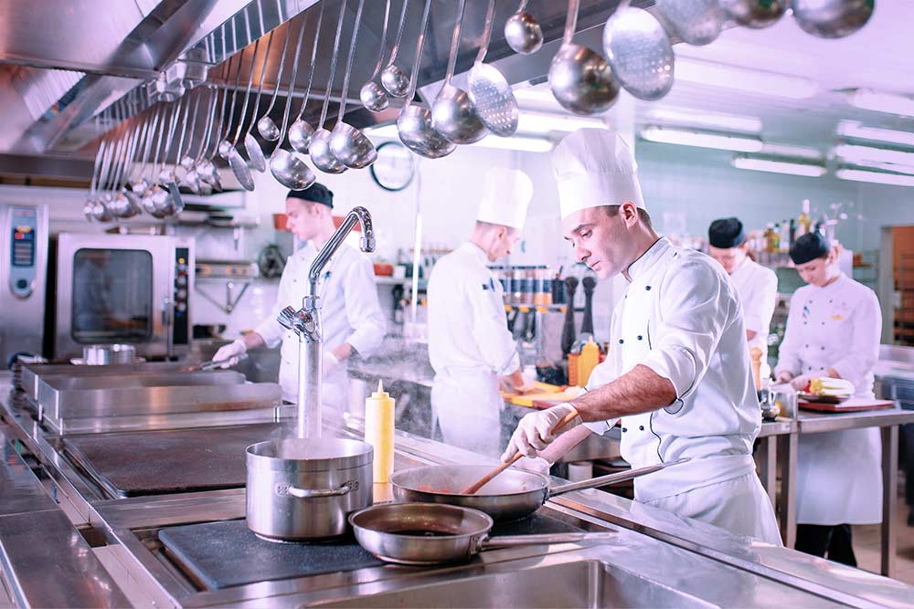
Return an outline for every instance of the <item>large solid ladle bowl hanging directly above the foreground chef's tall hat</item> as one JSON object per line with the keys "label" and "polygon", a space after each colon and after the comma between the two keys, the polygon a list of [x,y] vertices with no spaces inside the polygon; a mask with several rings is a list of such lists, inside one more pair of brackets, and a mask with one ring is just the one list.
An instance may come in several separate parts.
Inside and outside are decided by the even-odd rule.
{"label": "large solid ladle bowl hanging directly above the foreground chef's tall hat", "polygon": [[619,82],[599,53],[576,44],[562,45],[549,65],[549,88],[563,108],[599,114],[619,98]]}

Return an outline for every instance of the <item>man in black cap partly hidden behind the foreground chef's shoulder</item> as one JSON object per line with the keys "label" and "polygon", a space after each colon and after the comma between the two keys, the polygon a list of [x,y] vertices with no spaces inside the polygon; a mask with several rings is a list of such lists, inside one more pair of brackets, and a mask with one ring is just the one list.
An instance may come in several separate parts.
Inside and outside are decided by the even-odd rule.
{"label": "man in black cap partly hidden behind the foreground chef's shoulder", "polygon": [[736,286],[746,323],[749,353],[760,351],[760,377],[770,378],[768,334],[778,299],[778,276],[749,257],[749,242],[739,218],[720,218],[707,229],[708,254],[727,271]]}

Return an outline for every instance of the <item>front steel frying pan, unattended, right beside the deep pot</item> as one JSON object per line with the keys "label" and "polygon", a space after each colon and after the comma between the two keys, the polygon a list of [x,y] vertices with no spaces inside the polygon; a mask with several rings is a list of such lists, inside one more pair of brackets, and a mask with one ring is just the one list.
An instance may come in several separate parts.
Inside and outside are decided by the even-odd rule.
{"label": "front steel frying pan, unattended, right beside the deep pot", "polygon": [[492,519],[478,509],[441,503],[380,503],[349,515],[359,545],[399,564],[469,561],[479,551],[540,543],[611,539],[613,533],[569,532],[489,537]]}

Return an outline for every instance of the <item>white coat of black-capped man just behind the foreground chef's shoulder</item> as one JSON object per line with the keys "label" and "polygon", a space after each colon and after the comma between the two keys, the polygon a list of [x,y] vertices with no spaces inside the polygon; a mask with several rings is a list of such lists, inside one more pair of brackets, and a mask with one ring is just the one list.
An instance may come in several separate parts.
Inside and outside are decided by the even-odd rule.
{"label": "white coat of black-capped man just behind the foreground chef's shoulder", "polygon": [[771,268],[762,267],[746,257],[730,273],[730,281],[739,292],[746,330],[755,332],[749,341],[749,351],[755,347],[761,350],[761,378],[768,378],[771,374],[771,366],[768,365],[768,335],[778,299],[778,276]]}

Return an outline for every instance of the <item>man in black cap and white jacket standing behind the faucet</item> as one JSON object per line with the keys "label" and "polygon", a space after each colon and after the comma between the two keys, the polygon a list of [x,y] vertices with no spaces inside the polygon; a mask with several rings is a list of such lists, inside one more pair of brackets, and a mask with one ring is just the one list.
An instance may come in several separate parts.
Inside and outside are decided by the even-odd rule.
{"label": "man in black cap and white jacket standing behind the faucet", "polygon": [[[306,242],[289,257],[282,271],[276,304],[257,329],[216,352],[213,360],[233,360],[241,353],[262,345],[273,348],[282,341],[279,383],[282,398],[297,402],[298,335],[277,321],[285,307],[296,310],[308,293],[308,270],[321,248],[335,232],[334,194],[324,184],[312,184],[286,196],[287,226],[298,240]],[[324,330],[324,418],[339,423],[348,405],[349,383],[346,360],[358,353],[367,357],[384,338],[386,323],[377,299],[371,261],[355,247],[343,244],[318,283],[321,322]],[[237,361],[229,362],[233,365]]]}

